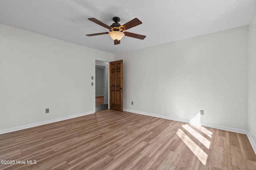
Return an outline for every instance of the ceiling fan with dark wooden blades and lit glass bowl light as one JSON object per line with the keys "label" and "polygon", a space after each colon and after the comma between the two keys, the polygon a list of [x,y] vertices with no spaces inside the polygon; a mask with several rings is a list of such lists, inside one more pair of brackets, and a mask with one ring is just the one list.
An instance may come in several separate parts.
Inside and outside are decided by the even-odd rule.
{"label": "ceiling fan with dark wooden blades and lit glass bowl light", "polygon": [[109,34],[110,37],[114,40],[114,45],[120,44],[120,39],[122,39],[123,36],[128,36],[128,37],[137,38],[137,39],[144,39],[146,37],[145,35],[140,35],[140,34],[130,33],[125,31],[127,29],[130,29],[132,27],[142,24],[142,22],[138,18],[134,18],[133,20],[125,23],[124,25],[120,25],[120,23],[118,23],[120,21],[120,18],[114,17],[113,21],[115,23],[113,23],[110,26],[97,20],[96,18],[88,18],[88,20],[109,29],[110,32],[87,34],[87,36]]}

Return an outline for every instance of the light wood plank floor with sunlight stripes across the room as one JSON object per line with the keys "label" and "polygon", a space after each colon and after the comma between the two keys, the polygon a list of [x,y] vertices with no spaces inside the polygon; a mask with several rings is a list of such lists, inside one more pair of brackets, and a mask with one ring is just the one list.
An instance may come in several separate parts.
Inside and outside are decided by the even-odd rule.
{"label": "light wood plank floor with sunlight stripes across the room", "polygon": [[244,134],[105,110],[0,135],[0,169],[256,169]]}

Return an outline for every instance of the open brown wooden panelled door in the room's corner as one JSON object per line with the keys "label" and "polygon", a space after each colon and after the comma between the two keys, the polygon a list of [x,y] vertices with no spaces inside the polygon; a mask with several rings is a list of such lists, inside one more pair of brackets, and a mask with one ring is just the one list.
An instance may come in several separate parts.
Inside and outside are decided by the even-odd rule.
{"label": "open brown wooden panelled door in the room's corner", "polygon": [[123,61],[110,62],[110,109],[123,111]]}

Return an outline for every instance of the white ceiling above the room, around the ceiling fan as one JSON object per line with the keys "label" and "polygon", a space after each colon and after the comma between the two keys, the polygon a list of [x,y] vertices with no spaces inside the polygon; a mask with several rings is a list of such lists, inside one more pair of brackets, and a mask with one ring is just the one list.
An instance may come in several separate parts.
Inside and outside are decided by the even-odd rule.
{"label": "white ceiling above the room, around the ceiling fan", "polygon": [[[0,0],[0,23],[116,54],[248,25],[255,10],[256,0]],[[114,16],[121,25],[138,18],[128,31],[147,37],[114,45],[86,36],[108,32],[87,18],[111,25]]]}

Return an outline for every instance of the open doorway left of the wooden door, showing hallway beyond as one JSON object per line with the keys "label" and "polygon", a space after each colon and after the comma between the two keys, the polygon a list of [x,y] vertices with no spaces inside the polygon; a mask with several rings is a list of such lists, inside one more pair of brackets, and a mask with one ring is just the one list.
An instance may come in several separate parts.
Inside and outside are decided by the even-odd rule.
{"label": "open doorway left of the wooden door, showing hallway beyond", "polygon": [[109,62],[95,59],[95,111],[109,108]]}

